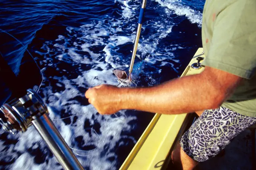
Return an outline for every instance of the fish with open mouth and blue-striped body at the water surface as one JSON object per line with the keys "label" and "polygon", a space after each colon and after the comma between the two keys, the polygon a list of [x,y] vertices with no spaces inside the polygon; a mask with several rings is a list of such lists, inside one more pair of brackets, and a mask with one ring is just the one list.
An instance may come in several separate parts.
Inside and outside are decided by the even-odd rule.
{"label": "fish with open mouth and blue-striped body at the water surface", "polygon": [[[123,86],[131,85],[131,82],[134,83],[134,80],[140,75],[143,61],[139,61],[133,65],[133,72],[130,76],[123,70],[114,70],[114,75],[117,76],[118,82]],[[134,83],[135,84],[135,83]],[[135,84],[136,85],[136,84]]]}

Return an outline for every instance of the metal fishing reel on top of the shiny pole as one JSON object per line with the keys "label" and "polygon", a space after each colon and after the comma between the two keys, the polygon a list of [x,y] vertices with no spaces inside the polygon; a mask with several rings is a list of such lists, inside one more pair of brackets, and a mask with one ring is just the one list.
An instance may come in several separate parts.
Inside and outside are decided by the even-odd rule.
{"label": "metal fishing reel on top of the shiny pole", "polygon": [[12,134],[24,133],[32,121],[43,114],[49,115],[42,98],[32,89],[21,98],[15,98],[0,107],[0,124],[5,131]]}

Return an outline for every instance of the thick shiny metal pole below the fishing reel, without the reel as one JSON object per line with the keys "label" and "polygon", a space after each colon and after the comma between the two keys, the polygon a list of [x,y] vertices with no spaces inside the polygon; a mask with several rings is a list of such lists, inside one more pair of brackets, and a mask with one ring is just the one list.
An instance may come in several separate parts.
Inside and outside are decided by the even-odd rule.
{"label": "thick shiny metal pole below the fishing reel, without the reel", "polygon": [[83,170],[83,167],[47,114],[34,119],[32,124],[65,170]]}

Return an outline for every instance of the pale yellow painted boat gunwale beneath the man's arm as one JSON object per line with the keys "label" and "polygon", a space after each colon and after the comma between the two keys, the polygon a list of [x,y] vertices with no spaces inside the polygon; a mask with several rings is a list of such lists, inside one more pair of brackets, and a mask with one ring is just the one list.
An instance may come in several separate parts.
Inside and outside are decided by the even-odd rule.
{"label": "pale yellow painted boat gunwale beneath the man's arm", "polygon": [[[183,76],[198,74],[201,69],[192,69],[191,64],[197,63],[197,57],[205,57],[203,48],[199,48]],[[158,170],[168,160],[169,153],[174,148],[186,127],[187,113],[180,115],[155,114],[152,121],[130,152],[120,170]]]}

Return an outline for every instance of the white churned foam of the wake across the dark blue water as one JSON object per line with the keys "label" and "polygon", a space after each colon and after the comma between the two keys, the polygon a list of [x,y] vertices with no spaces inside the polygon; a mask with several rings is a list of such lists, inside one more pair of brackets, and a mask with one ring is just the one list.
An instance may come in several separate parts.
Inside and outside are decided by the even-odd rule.
{"label": "white churned foam of the wake across the dark blue water", "polygon": [[[119,0],[121,7],[120,13],[122,13],[121,19],[113,19],[108,16],[104,16],[105,18],[99,22],[91,22],[90,24],[82,25],[79,28],[67,27],[67,31],[69,31],[70,35],[59,35],[58,39],[52,42],[45,42],[43,45],[43,49],[47,51],[47,55],[44,55],[44,60],[40,61],[41,64],[47,64],[49,67],[55,68],[56,63],[52,63],[53,58],[55,60],[61,62],[70,63],[70,59],[72,60],[72,64],[70,67],[79,66],[79,69],[76,72],[79,73],[79,76],[76,78],[68,79],[65,75],[67,74],[69,68],[65,68],[61,70],[64,72],[62,77],[51,76],[46,78],[56,79],[59,83],[56,84],[58,87],[62,87],[64,84],[64,91],[53,92],[52,86],[45,86],[42,91],[44,94],[43,100],[49,101],[47,107],[49,108],[50,118],[53,119],[55,126],[60,131],[61,135],[64,137],[66,142],[71,145],[74,142],[75,137],[82,136],[85,142],[85,145],[93,145],[95,149],[91,151],[79,151],[77,145],[73,146],[74,152],[77,153],[79,161],[83,166],[90,166],[91,170],[96,169],[116,169],[116,159],[113,162],[108,160],[108,157],[117,158],[118,155],[113,151],[116,144],[122,138],[130,139],[134,144],[136,143],[136,139],[132,136],[125,136],[122,134],[123,131],[131,131],[134,125],[130,125],[130,122],[136,119],[134,115],[124,116],[126,111],[122,110],[117,115],[118,116],[108,116],[108,115],[99,115],[97,110],[91,105],[84,106],[80,101],[75,100],[76,97],[84,97],[84,92],[81,92],[81,89],[87,89],[88,87],[100,85],[100,84],[111,84],[117,85],[118,82],[116,77],[113,75],[113,69],[119,67],[129,67],[130,64],[130,56],[122,57],[119,51],[121,45],[126,45],[127,43],[131,43],[135,39],[136,29],[137,29],[137,16],[138,10],[141,5],[141,1],[131,1]],[[186,15],[188,18],[195,17],[194,14],[197,11],[193,11],[186,6],[179,5],[179,1],[175,1],[176,3],[172,3],[172,6],[168,6],[168,2],[166,3],[158,0],[158,2],[167,7],[168,10],[173,9],[177,12],[177,15]],[[162,2],[162,3],[161,3]],[[183,11],[184,9],[186,12]],[[136,17],[134,17],[136,16]],[[196,18],[196,17],[195,17]],[[108,22],[104,22],[108,21]],[[131,23],[132,21],[132,23]],[[133,22],[136,21],[136,22]],[[195,20],[195,22],[198,22]],[[106,24],[108,23],[108,24]],[[126,24],[128,27],[124,27]],[[149,24],[151,22],[149,21]],[[159,48],[159,42],[166,38],[172,31],[172,24],[169,22],[160,22],[154,21],[151,25],[152,29],[157,30],[155,34],[152,35],[143,35],[142,39],[138,45],[138,53],[137,55],[140,57],[145,57],[146,64],[161,63],[160,66],[165,66],[166,64],[170,64],[170,60],[172,62],[178,63],[173,54],[172,50],[179,47],[178,45],[171,45],[171,48]],[[143,26],[143,30],[146,27]],[[77,33],[74,33],[78,32]],[[119,35],[119,31],[121,31],[121,35]],[[126,34],[128,31],[131,34]],[[75,38],[75,42],[74,39]],[[72,45],[72,47],[67,47]],[[52,48],[53,46],[53,48]],[[93,46],[101,46],[101,50],[95,52],[92,50]],[[84,56],[78,52],[80,49],[84,52],[88,52],[89,57]],[[131,53],[131,49],[126,49]],[[68,52],[66,52],[68,51]],[[56,55],[51,55],[51,52],[56,52]],[[39,52],[38,52],[39,53]],[[52,58],[51,58],[52,57]],[[103,59],[103,60],[102,60]],[[166,60],[168,59],[168,60]],[[81,64],[90,64],[90,70],[82,70]],[[160,67],[159,66],[159,67]],[[171,66],[174,67],[174,64],[171,63]],[[101,69],[98,69],[101,68]],[[59,68],[56,68],[58,70]],[[43,68],[42,71],[45,71],[46,68]],[[162,70],[156,70],[155,73],[161,73]],[[72,74],[72,73],[69,73]],[[152,86],[157,84],[158,82],[150,76],[150,73],[143,73],[146,75],[146,78],[149,80],[148,86]],[[85,97],[84,97],[84,100]],[[65,112],[67,115],[62,115]],[[75,120],[76,122],[73,122]],[[94,117],[94,118],[93,118]],[[71,125],[65,124],[65,119],[72,122]],[[91,132],[91,136],[88,132],[84,130],[85,120],[89,120],[90,125],[98,122],[100,124],[100,133],[96,132],[93,128],[89,127]],[[56,166],[55,158],[47,158],[48,165],[40,164],[40,166],[35,165],[33,162],[24,163],[23,161],[26,159],[33,160],[34,157],[27,154],[28,148],[35,148],[40,145],[40,148],[46,147],[46,144],[42,142],[41,136],[37,133],[35,128],[31,127],[29,130],[22,134],[16,136],[19,138],[18,143],[13,146],[15,151],[19,151],[23,156],[17,159],[12,166],[12,169],[50,169],[54,167],[54,169],[61,169],[59,166]],[[109,149],[105,149],[107,146]],[[122,145],[122,143],[120,143]],[[0,146],[3,146],[0,143]],[[76,150],[75,150],[76,149]],[[102,156],[102,152],[106,152],[105,155]],[[8,154],[12,154],[12,152],[8,152]],[[85,158],[84,158],[85,157]],[[26,158],[26,159],[25,159]],[[15,168],[14,168],[15,167]]]}

